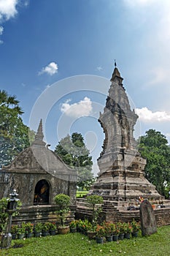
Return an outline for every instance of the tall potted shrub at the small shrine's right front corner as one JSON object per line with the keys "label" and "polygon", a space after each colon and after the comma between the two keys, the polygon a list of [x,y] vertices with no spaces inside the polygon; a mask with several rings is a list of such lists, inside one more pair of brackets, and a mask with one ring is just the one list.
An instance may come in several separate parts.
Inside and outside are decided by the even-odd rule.
{"label": "tall potted shrub at the small shrine's right front corner", "polygon": [[69,195],[59,194],[54,197],[55,203],[58,206],[56,213],[60,219],[60,225],[58,226],[58,233],[69,233],[69,226],[65,225],[66,217],[69,214],[70,197]]}

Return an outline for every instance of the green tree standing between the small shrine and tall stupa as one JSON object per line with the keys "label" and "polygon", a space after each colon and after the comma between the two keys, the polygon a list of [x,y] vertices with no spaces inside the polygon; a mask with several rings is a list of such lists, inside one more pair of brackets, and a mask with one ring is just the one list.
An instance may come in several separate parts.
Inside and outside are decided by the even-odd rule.
{"label": "green tree standing between the small shrine and tall stupa", "polygon": [[55,147],[55,154],[58,154],[66,165],[76,168],[78,171],[77,185],[85,187],[87,181],[93,178],[92,157],[89,155],[88,148],[85,147],[84,139],[81,133],[74,132],[72,137],[67,135],[61,139]]}

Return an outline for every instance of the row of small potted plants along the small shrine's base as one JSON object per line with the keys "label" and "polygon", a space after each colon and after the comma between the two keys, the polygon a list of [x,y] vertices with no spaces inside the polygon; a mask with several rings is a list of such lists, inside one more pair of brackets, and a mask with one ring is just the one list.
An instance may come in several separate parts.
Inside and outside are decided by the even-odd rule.
{"label": "row of small potted plants along the small shrine's base", "polygon": [[31,222],[23,222],[21,225],[12,225],[11,227],[11,233],[12,238],[30,238],[31,236],[40,236],[42,233],[42,236],[47,235],[55,235],[57,230],[57,227],[55,225],[55,222],[36,222],[35,224]]}

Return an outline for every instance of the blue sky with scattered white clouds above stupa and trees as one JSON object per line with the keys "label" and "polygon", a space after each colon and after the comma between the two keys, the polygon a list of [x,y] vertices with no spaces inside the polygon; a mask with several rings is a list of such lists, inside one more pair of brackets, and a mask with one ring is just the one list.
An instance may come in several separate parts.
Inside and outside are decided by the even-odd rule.
{"label": "blue sky with scattered white clouds above stupa and trees", "polygon": [[[42,101],[50,108],[43,120],[47,142],[53,148],[68,132],[61,127],[77,130],[96,145],[90,145],[93,159],[101,151],[97,113],[114,59],[140,116],[140,133],[156,129],[170,141],[169,45],[169,0],[0,0],[0,88],[18,97],[27,125],[34,104],[53,94],[52,106],[46,105],[50,96]],[[84,75],[90,86],[82,85]],[[44,118],[43,110],[36,118]],[[36,129],[38,123],[30,124]]]}

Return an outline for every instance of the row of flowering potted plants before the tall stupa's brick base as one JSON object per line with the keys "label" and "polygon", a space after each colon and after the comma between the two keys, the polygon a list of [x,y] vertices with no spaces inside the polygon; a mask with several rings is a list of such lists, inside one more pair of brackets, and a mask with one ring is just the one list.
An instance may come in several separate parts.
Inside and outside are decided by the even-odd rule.
{"label": "row of flowering potted plants before the tall stupa's brick base", "polygon": [[88,219],[74,220],[70,223],[70,230],[77,230],[85,235],[88,235],[89,238],[98,238],[101,242],[104,241],[104,238],[107,241],[117,241],[118,239],[130,238],[131,236],[137,236],[137,233],[140,229],[139,222],[133,220],[132,222],[103,222],[102,225],[93,226]]}

